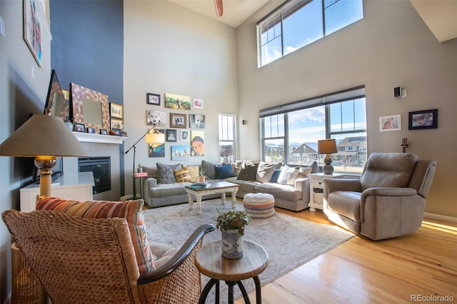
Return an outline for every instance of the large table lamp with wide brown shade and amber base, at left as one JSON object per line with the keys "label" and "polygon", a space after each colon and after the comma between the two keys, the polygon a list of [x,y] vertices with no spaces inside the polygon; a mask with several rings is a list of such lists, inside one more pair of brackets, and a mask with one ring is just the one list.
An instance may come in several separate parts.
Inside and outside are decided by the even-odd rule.
{"label": "large table lamp with wide brown shade and amber base, at left", "polygon": [[40,194],[51,196],[51,174],[56,156],[89,156],[62,118],[31,116],[0,145],[0,156],[34,157],[40,173]]}

